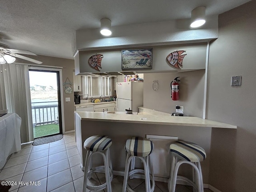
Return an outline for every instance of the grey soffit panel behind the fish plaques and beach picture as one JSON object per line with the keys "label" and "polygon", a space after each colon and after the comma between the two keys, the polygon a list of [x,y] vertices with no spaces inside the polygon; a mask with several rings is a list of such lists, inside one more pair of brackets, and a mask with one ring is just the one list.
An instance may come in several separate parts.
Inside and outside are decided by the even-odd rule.
{"label": "grey soffit panel behind the fish plaques and beach picture", "polygon": [[[75,56],[76,74],[103,74],[104,72],[127,72],[132,71],[136,73],[152,73],[152,72],[176,72],[176,71],[191,71],[205,69],[206,63],[206,42],[178,44],[178,45],[160,45],[147,47],[132,47],[132,48],[109,48],[98,50],[84,50],[78,51]],[[136,65],[133,69],[122,69],[122,50],[140,50],[145,48],[152,48],[152,69],[139,69]],[[182,61],[181,69],[175,68],[168,62],[167,56],[172,52],[185,51]],[[88,60],[93,55],[101,56],[100,66],[98,70],[92,67]],[[176,58],[179,59],[179,58]],[[175,60],[175,59],[173,59]],[[125,74],[125,73],[124,73]]]}

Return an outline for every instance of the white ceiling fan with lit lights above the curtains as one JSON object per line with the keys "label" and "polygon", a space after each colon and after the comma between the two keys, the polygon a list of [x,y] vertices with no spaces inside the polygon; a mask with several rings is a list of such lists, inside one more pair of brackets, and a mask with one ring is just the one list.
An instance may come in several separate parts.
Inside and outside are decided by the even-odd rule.
{"label": "white ceiling fan with lit lights above the curtains", "polygon": [[18,50],[18,49],[10,49],[9,46],[0,43],[0,64],[5,64],[5,63],[13,63],[17,58],[24,59],[36,64],[42,64],[41,61],[28,58],[26,56],[20,55],[20,54],[25,54],[25,55],[35,55],[34,53],[26,50]]}

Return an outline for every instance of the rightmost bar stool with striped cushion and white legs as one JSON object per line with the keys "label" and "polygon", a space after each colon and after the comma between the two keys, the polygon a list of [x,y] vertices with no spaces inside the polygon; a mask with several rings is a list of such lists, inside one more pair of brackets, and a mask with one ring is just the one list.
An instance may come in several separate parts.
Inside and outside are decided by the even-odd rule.
{"label": "rightmost bar stool with striped cushion and white legs", "polygon": [[[200,161],[206,158],[206,152],[202,147],[192,142],[176,141],[170,144],[172,164],[170,168],[170,178],[168,180],[169,192],[175,192],[176,181],[182,180],[193,186],[198,192],[204,192],[203,177]],[[189,164],[193,169],[192,180],[178,175],[181,164]]]}

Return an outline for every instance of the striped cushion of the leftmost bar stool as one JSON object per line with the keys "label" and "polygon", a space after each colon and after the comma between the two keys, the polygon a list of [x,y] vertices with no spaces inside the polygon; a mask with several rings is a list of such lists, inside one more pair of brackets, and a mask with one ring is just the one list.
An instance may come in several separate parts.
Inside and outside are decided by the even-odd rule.
{"label": "striped cushion of the leftmost bar stool", "polygon": [[112,139],[105,135],[94,135],[84,141],[84,148],[88,151],[102,151],[112,145]]}

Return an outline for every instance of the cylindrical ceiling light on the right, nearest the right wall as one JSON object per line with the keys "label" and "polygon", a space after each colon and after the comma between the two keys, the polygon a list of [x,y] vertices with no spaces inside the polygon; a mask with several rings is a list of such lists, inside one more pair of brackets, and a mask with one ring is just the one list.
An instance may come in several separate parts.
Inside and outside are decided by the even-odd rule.
{"label": "cylindrical ceiling light on the right, nearest the right wall", "polygon": [[191,24],[190,27],[200,27],[205,23],[205,7],[200,6],[194,8],[191,12]]}

